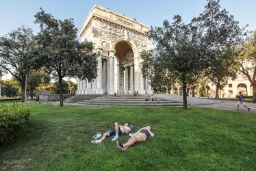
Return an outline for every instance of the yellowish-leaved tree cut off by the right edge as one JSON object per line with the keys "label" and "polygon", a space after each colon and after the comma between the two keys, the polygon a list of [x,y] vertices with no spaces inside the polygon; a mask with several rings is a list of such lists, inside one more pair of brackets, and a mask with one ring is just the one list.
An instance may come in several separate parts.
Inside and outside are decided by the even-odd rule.
{"label": "yellowish-leaved tree cut off by the right edge", "polygon": [[256,96],[256,31],[249,36],[237,49],[238,70],[244,74],[253,86],[253,96]]}

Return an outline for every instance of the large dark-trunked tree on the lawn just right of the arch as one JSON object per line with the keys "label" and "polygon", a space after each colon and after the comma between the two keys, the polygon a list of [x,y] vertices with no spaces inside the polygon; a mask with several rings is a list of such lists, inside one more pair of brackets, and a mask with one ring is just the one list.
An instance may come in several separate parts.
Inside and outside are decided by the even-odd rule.
{"label": "large dark-trunked tree on the lawn just right of the arch", "polygon": [[148,60],[142,63],[146,63],[144,66],[152,63],[153,69],[142,68],[142,72],[146,72],[147,77],[154,77],[155,72],[151,71],[159,67],[158,70],[170,73],[172,82],[181,83],[183,109],[187,109],[186,88],[211,66],[211,59],[222,49],[241,41],[243,29],[229,12],[220,10],[219,1],[215,0],[208,0],[205,11],[188,24],[183,23],[179,15],[173,20],[171,24],[165,20],[164,27],[149,30],[155,49],[147,52],[149,57],[145,58]]}

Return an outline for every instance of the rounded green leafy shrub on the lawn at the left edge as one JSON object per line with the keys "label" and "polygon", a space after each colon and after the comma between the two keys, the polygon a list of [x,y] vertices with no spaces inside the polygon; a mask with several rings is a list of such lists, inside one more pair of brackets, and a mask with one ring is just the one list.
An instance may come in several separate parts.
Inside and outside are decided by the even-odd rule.
{"label": "rounded green leafy shrub on the lawn at the left edge", "polygon": [[23,103],[0,105],[0,144],[14,140],[27,130],[29,110]]}

